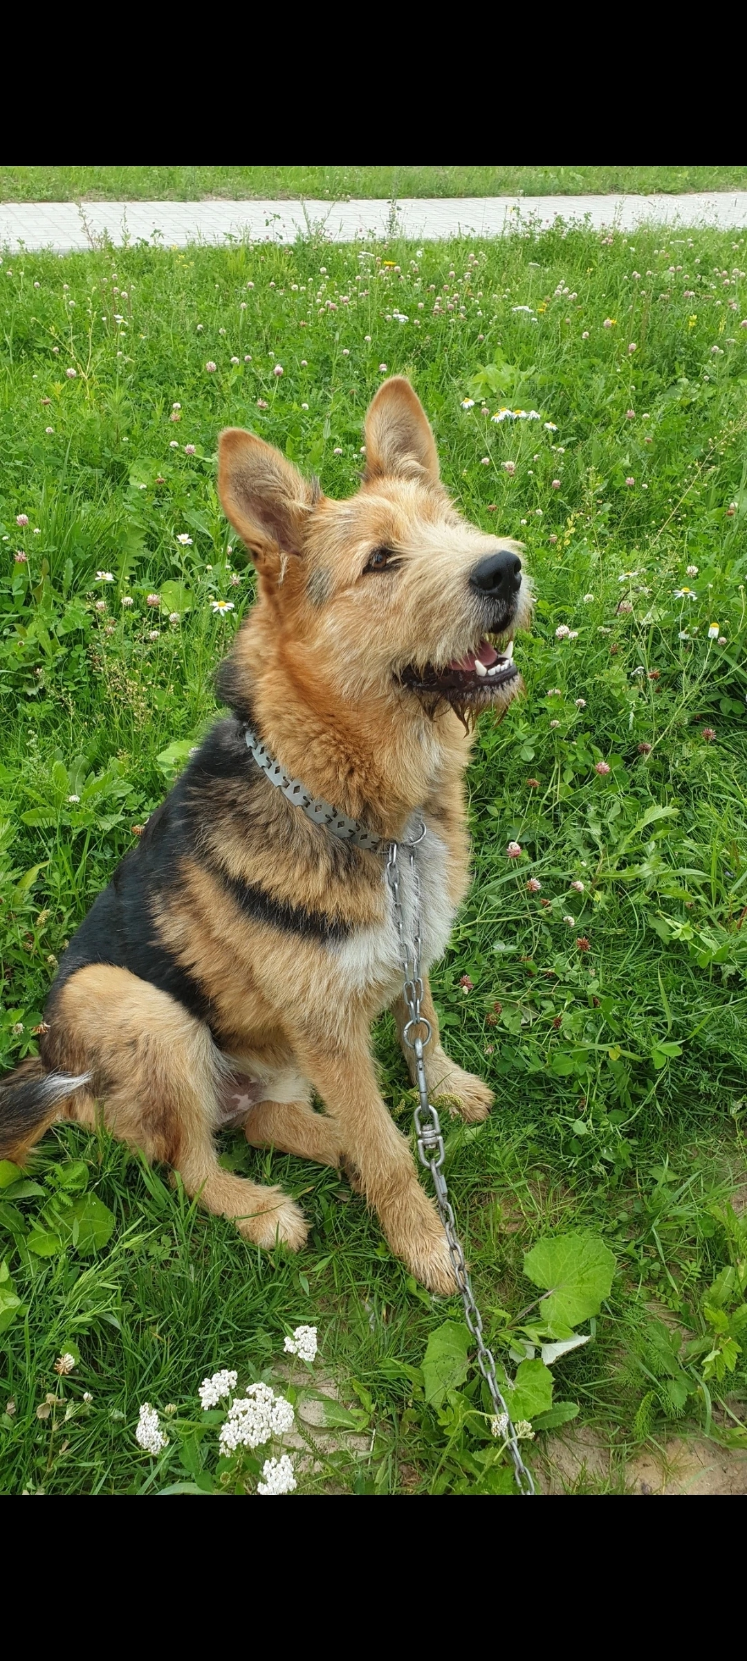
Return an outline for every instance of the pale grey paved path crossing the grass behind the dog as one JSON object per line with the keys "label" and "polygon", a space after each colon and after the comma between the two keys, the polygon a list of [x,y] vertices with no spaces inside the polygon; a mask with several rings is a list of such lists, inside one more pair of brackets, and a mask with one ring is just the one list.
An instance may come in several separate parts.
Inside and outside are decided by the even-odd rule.
{"label": "pale grey paved path crossing the grass behind the dog", "polygon": [[105,234],[124,241],[222,243],[226,238],[292,243],[322,229],[332,243],[383,238],[392,231],[413,241],[452,236],[503,236],[520,218],[549,226],[588,218],[594,228],[646,223],[740,231],[747,226],[747,191],[691,196],[461,196],[387,201],[204,201],[204,203],[2,203],[0,246],[85,251]]}

